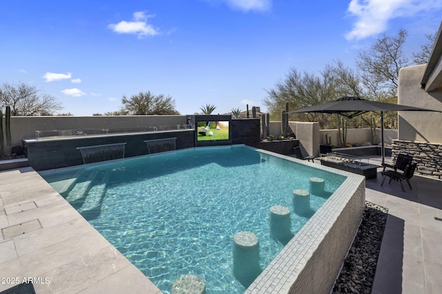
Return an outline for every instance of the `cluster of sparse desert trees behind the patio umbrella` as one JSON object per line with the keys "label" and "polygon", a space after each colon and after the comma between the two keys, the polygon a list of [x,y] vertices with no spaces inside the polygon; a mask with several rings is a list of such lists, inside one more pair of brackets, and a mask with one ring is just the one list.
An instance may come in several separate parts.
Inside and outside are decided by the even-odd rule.
{"label": "cluster of sparse desert trees behind the patio umbrella", "polygon": [[[427,36],[430,43],[421,46],[422,52],[414,53],[414,62],[427,60],[432,50],[434,36]],[[401,67],[409,66],[403,45],[407,31],[399,30],[396,36],[383,35],[369,50],[361,50],[354,68],[337,61],[327,65],[319,75],[300,73],[292,68],[284,81],[267,90],[267,105],[272,119],[280,119],[281,109],[289,102],[290,109],[300,109],[335,101],[342,96],[357,96],[367,100],[397,103],[398,75]],[[425,61],[426,62],[426,61]],[[335,128],[336,120],[327,114],[296,114],[291,118],[300,121],[317,121],[322,128]],[[348,127],[368,127],[379,116],[373,112],[348,120]],[[397,112],[384,114],[385,127],[397,127]]]}

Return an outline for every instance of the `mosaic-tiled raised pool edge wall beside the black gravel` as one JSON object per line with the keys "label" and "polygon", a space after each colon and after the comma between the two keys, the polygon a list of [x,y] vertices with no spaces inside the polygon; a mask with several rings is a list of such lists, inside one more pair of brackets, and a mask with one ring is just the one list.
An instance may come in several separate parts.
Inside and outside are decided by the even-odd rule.
{"label": "mosaic-tiled raised pool edge wall beside the black gravel", "polygon": [[358,231],[365,209],[365,178],[302,164],[343,174],[347,180],[247,288],[247,294],[329,293]]}

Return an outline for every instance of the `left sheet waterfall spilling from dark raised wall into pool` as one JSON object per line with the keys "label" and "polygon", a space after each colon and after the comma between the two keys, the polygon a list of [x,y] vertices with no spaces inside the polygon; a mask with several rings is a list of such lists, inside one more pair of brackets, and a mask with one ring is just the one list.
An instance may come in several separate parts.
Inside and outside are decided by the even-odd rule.
{"label": "left sheet waterfall spilling from dark raised wall into pool", "polygon": [[77,147],[83,156],[83,162],[92,163],[104,160],[124,158],[126,143]]}

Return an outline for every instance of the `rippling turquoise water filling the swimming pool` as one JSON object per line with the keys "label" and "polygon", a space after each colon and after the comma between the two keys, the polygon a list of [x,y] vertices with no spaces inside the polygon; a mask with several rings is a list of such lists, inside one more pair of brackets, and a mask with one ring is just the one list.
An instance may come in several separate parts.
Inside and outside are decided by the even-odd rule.
{"label": "rippling turquoise water filling the swimming pool", "polygon": [[[269,232],[269,209],[291,210],[291,232],[307,218],[292,191],[325,179],[328,195],[344,176],[248,147],[204,147],[41,172],[104,237],[164,293],[181,275],[202,277],[206,293],[243,293],[232,273],[233,235],[259,238],[265,269],[284,244]],[[327,197],[311,196],[316,211]]]}

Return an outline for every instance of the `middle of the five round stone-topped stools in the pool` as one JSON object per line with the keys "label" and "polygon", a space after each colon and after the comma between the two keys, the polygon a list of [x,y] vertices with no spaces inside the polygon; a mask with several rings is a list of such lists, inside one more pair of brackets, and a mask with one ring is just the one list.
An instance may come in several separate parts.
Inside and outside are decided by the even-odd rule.
{"label": "middle of the five round stone-topped stools in the pool", "polygon": [[271,237],[287,244],[293,234],[290,231],[290,209],[280,205],[270,207],[270,234]]}

